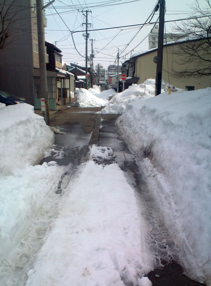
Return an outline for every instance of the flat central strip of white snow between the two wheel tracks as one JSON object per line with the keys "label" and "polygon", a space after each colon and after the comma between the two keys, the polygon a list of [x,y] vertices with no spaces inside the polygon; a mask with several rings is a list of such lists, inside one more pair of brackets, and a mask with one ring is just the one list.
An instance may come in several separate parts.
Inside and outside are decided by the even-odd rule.
{"label": "flat central strip of white snow between the two wheel tracks", "polygon": [[84,164],[59,207],[26,286],[137,285],[152,269],[146,224],[118,164]]}

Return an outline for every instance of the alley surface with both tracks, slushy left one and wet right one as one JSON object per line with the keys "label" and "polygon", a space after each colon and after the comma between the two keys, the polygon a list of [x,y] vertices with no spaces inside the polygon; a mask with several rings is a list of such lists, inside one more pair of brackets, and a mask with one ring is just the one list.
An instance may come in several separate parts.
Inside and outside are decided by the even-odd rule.
{"label": "alley surface with both tracks, slushy left one and wet right one", "polygon": [[[142,174],[139,161],[128,150],[127,145],[118,134],[115,126],[118,116],[96,114],[95,112],[98,111],[100,108],[71,106],[55,113],[51,118],[50,126],[55,132],[55,143],[51,156],[46,157],[41,163],[56,161],[58,165],[63,166],[63,173],[56,191],[49,196],[47,203],[40,209],[36,219],[23,237],[18,251],[13,253],[13,269],[11,269],[11,265],[8,265],[4,268],[5,272],[0,273],[0,276],[4,276],[4,285],[26,285],[28,273],[30,273],[30,269],[33,269],[34,257],[42,248],[52,222],[58,217],[59,201],[69,182],[79,171],[81,163],[90,158],[92,144],[106,146],[113,150],[114,156],[109,160],[99,158],[96,159],[96,163],[102,165],[118,163],[135,192],[141,216],[147,224],[147,240],[150,244],[150,251],[155,256],[157,269],[147,275],[153,286],[201,285],[183,275],[182,268],[175,262],[177,252],[174,241],[163,223],[162,212],[148,188],[148,182]],[[166,265],[165,268],[160,267],[160,264]],[[127,277],[121,278],[124,285],[133,285],[127,282]]]}

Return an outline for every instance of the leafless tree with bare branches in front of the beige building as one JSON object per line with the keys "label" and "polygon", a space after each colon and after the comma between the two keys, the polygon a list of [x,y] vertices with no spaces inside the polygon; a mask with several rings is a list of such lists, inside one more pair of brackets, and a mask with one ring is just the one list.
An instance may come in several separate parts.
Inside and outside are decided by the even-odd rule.
{"label": "leafless tree with bare branches in front of the beige building", "polygon": [[[180,70],[173,70],[178,78],[201,77],[211,75],[211,2],[204,0],[207,8],[201,8],[196,0],[193,12],[206,16],[205,18],[188,20],[181,26],[176,25],[174,30],[183,34],[186,40],[178,40],[179,48],[174,53],[182,59],[178,62]],[[185,66],[182,70],[181,66]],[[194,68],[193,68],[194,66]]]}

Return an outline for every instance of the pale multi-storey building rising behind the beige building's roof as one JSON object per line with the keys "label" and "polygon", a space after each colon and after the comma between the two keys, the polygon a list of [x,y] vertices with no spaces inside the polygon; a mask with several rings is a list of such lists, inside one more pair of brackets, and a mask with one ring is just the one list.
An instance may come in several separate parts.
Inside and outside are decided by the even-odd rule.
{"label": "pale multi-storey building rising behind the beige building's roof", "polygon": [[[176,41],[182,37],[183,34],[166,33],[164,34],[163,41],[164,43]],[[154,49],[158,47],[158,25],[156,25],[155,28],[152,29],[152,31],[149,33],[148,41],[149,41],[149,49]]]}

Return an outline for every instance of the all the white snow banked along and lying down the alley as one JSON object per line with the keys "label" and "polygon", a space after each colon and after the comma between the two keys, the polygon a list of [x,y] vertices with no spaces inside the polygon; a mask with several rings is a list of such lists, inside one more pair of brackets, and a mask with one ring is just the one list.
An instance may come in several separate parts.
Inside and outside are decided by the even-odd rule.
{"label": "all the white snow banked along and lying down the alley", "polygon": [[[210,286],[211,88],[155,97],[154,84],[150,79],[114,95],[104,112],[122,113],[117,126],[148,178],[185,273]],[[94,90],[79,89],[78,103],[108,102],[110,95],[105,100]],[[0,119],[0,284],[14,286],[17,281],[6,271],[14,267],[13,251],[26,244],[23,235],[64,169],[54,161],[35,165],[62,152],[56,152],[53,132],[30,105],[3,106]],[[43,244],[39,253],[26,245],[35,259],[31,268],[23,266],[27,286],[124,286],[123,280],[151,285],[144,276],[154,268],[155,257],[141,206],[118,164],[99,164],[106,158],[113,158],[111,149],[93,146],[58,202],[58,217],[49,213],[54,219],[42,241],[37,237]]]}

